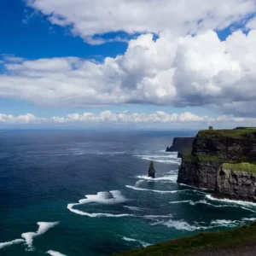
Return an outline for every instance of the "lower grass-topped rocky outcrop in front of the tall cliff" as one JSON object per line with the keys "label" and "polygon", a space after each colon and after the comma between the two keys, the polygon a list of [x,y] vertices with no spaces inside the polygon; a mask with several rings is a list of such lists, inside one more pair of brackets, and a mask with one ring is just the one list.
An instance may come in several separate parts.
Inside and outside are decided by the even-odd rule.
{"label": "lower grass-topped rocky outcrop in front of the tall cliff", "polygon": [[256,166],[249,163],[223,164],[217,174],[214,195],[256,202]]}

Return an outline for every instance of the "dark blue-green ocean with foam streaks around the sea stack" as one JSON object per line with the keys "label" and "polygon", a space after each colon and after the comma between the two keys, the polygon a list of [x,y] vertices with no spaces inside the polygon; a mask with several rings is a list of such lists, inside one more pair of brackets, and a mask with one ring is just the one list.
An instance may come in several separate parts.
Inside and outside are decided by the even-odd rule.
{"label": "dark blue-green ocean with foam streaks around the sea stack", "polygon": [[195,134],[0,132],[0,255],[110,255],[256,219],[256,204],[176,183],[166,146]]}

